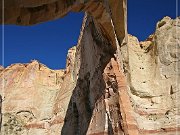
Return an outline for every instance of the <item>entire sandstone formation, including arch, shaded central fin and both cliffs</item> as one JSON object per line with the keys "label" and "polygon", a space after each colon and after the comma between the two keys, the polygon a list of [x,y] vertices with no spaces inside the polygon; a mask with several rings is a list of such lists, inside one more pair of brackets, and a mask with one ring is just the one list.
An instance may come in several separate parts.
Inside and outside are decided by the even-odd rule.
{"label": "entire sandstone formation, including arch, shaded central fin and both cliffs", "polygon": [[[180,133],[180,19],[146,41],[126,33],[125,0],[7,0],[5,24],[33,25],[86,11],[66,69],[37,61],[0,68],[3,135]],[[128,41],[128,42],[127,42]]]}

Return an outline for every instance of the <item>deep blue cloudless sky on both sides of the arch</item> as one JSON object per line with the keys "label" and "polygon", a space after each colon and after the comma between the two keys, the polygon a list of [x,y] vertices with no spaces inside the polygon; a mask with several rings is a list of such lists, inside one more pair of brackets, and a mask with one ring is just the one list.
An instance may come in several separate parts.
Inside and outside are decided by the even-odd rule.
{"label": "deep blue cloudless sky on both sides of the arch", "polygon": [[[164,16],[175,18],[175,11],[176,0],[128,0],[128,33],[145,40],[155,31],[157,21]],[[52,69],[64,68],[68,49],[77,43],[83,16],[69,13],[34,26],[5,26],[5,66],[36,59]],[[2,33],[0,36],[2,40]]]}

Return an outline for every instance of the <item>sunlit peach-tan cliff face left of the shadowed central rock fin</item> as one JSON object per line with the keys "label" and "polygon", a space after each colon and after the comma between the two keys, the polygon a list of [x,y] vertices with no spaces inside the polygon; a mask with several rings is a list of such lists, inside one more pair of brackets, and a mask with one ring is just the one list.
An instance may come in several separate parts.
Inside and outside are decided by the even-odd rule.
{"label": "sunlit peach-tan cliff face left of the shadowed central rock fin", "polygon": [[0,80],[2,133],[35,134],[32,130],[27,131],[29,126],[43,128],[52,119],[53,103],[63,82],[63,74],[63,70],[50,70],[37,61],[4,69]]}

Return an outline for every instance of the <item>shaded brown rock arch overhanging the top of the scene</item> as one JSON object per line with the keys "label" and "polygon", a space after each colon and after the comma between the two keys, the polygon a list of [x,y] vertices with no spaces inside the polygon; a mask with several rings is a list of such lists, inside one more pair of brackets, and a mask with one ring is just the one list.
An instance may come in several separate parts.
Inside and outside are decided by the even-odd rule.
{"label": "shaded brown rock arch overhanging the top of the scene", "polygon": [[[1,2],[2,4],[2,2]],[[116,50],[116,37],[121,44],[126,35],[126,0],[5,0],[1,22],[34,25],[61,18],[71,11],[84,11],[98,22],[104,36]]]}

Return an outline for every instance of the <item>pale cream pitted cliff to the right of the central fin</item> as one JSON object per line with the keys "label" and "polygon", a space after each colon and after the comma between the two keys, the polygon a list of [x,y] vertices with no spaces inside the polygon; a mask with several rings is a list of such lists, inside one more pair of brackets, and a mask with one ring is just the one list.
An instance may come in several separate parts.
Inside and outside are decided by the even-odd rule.
{"label": "pale cream pitted cliff to the right of the central fin", "polygon": [[129,94],[143,134],[179,134],[180,19],[165,17],[155,34],[122,47]]}

